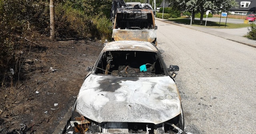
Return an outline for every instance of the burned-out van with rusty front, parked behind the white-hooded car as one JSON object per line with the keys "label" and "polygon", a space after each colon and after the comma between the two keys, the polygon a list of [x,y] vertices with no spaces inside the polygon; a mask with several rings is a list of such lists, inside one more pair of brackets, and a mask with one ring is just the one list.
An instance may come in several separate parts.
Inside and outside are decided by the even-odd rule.
{"label": "burned-out van with rusty front, parked behind the white-hooded car", "polygon": [[[122,4],[120,2],[119,4]],[[148,41],[157,45],[155,18],[150,4],[133,3],[116,8],[112,13],[112,41]]]}

